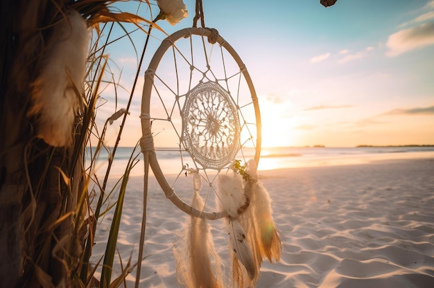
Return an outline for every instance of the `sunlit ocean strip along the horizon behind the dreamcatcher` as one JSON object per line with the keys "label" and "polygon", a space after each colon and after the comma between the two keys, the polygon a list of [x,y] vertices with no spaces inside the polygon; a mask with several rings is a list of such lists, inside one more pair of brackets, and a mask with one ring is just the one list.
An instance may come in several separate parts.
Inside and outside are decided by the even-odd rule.
{"label": "sunlit ocean strip along the horizon behind the dreamcatcher", "polygon": [[[92,150],[93,149],[93,150]],[[183,165],[192,167],[191,158],[186,152],[175,151],[176,148],[155,148],[160,168],[164,174],[180,174]],[[89,165],[94,148],[87,148],[86,163]],[[139,148],[118,147],[110,172],[111,177],[119,177],[125,172],[131,156],[137,156],[131,176],[144,174],[143,154]],[[252,159],[254,150],[243,148],[243,155],[236,159]],[[392,159],[434,159],[434,146],[401,147],[263,147],[258,170],[275,170],[284,168],[320,167],[329,165],[351,165],[368,163],[376,160]],[[107,170],[107,151],[102,151],[96,161],[96,174],[103,177]]]}

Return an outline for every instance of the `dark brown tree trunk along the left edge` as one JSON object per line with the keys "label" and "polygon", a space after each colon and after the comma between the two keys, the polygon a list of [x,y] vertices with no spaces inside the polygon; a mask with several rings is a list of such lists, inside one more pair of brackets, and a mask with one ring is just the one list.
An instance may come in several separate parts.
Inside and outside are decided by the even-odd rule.
{"label": "dark brown tree trunk along the left edge", "polygon": [[62,222],[64,231],[51,227],[71,206],[58,170],[69,171],[69,150],[38,140],[27,116],[31,83],[63,2],[0,4],[0,287],[58,285],[69,273],[52,251],[71,233],[71,219]]}

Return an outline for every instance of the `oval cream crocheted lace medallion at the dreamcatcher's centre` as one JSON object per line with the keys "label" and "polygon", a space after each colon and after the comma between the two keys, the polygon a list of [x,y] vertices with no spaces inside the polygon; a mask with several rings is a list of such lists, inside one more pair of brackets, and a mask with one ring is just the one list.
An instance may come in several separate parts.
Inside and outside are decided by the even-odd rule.
{"label": "oval cream crocheted lace medallion at the dreamcatcher's centre", "polygon": [[182,143],[202,168],[233,163],[240,147],[238,112],[229,93],[215,82],[187,93],[182,109]]}

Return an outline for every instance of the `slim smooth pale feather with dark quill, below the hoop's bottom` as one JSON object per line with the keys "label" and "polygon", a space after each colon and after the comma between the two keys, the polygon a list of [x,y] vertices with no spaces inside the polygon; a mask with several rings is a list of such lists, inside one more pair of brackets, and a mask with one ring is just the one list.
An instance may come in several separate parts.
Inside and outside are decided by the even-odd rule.
{"label": "slim smooth pale feather with dark quill, below the hoop's bottom", "polygon": [[255,278],[257,269],[254,264],[248,240],[245,238],[243,226],[241,226],[237,219],[229,220],[227,233],[229,234],[229,243],[236,254],[236,257],[245,267],[250,279]]}

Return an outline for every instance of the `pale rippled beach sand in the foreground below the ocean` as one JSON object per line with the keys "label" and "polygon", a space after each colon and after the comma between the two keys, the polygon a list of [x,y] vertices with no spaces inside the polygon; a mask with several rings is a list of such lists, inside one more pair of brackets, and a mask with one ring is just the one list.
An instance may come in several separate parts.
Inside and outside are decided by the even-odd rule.
{"label": "pale rippled beach sand in the foreground below the ocean", "polygon": [[[263,262],[257,287],[434,287],[434,159],[259,176],[273,200],[283,250],[279,263]],[[142,189],[142,178],[132,177],[119,233],[123,264],[130,255],[137,259]],[[105,222],[92,259],[103,254],[110,228]],[[172,249],[186,222],[151,177],[141,287],[178,287]],[[216,249],[229,262],[223,221],[210,224]],[[135,275],[128,276],[128,287]]]}

